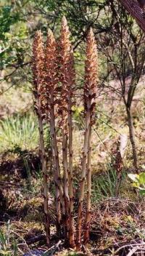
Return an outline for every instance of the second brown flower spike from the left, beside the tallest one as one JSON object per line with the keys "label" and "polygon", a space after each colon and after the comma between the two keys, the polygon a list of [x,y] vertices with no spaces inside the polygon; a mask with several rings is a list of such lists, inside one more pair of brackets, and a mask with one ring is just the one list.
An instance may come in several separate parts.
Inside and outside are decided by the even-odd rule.
{"label": "second brown flower spike from the left, beside the tallest one", "polygon": [[57,132],[55,125],[55,106],[57,104],[57,44],[51,30],[48,31],[46,41],[46,101],[47,101],[47,117],[49,119],[51,129],[51,143],[54,159],[54,183],[55,183],[55,200],[57,209],[57,234],[61,231],[61,204],[62,212],[65,211],[63,202],[63,189],[59,167],[59,153],[57,147]]}

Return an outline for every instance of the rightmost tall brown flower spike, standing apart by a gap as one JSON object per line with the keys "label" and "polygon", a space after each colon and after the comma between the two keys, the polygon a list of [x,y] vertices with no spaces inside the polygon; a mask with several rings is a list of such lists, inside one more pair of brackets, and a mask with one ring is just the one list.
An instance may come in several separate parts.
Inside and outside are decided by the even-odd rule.
{"label": "rightmost tall brown flower spike, standing apart by a gap", "polygon": [[91,215],[91,127],[94,123],[94,110],[96,105],[96,88],[98,84],[98,57],[94,33],[90,29],[87,36],[86,46],[86,66],[84,84],[84,110],[85,110],[85,135],[83,144],[82,173],[80,180],[80,196],[78,204],[78,225],[77,225],[77,248],[81,246],[82,236],[82,209],[85,191],[85,181],[87,181],[87,211],[84,226],[83,243],[89,238],[89,223]]}

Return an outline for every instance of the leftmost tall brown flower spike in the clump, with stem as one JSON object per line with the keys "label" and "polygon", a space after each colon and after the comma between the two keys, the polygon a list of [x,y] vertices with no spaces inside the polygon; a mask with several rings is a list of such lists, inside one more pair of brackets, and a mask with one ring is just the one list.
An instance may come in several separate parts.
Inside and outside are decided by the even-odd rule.
{"label": "leftmost tall brown flower spike in the clump, with stem", "polygon": [[45,66],[44,66],[44,49],[43,37],[41,31],[36,32],[33,41],[33,95],[35,109],[38,116],[38,129],[40,137],[41,162],[43,172],[43,197],[44,197],[44,215],[46,242],[49,244],[50,228],[49,228],[49,212],[48,212],[48,175],[46,170],[46,154],[43,140],[43,112],[44,112],[44,95],[45,95]]}

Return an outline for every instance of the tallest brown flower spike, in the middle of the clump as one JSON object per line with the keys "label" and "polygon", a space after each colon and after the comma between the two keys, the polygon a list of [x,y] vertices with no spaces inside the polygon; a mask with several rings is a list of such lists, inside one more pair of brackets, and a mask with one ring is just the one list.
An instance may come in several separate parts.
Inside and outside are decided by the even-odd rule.
{"label": "tallest brown flower spike, in the middle of the clump", "polygon": [[[60,47],[60,81],[61,103],[59,113],[61,115],[62,128],[62,162],[64,168],[64,196],[65,196],[65,220],[66,233],[70,246],[75,247],[73,228],[73,188],[72,188],[72,96],[75,83],[75,70],[73,52],[70,44],[70,31],[67,20],[62,17]],[[68,155],[68,157],[67,157]]]}

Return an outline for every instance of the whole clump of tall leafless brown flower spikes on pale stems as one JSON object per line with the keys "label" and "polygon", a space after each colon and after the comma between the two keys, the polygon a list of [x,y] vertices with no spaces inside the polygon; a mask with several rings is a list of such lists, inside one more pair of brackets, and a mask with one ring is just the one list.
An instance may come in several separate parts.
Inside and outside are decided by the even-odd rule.
{"label": "whole clump of tall leafless brown flower spikes on pale stems", "polygon": [[[90,29],[88,33],[86,45],[85,84],[83,87],[85,133],[78,201],[76,242],[73,217],[74,195],[72,174],[72,105],[74,104],[75,68],[73,51],[70,43],[70,31],[65,17],[62,17],[61,36],[58,45],[54,39],[53,33],[50,30],[48,31],[45,54],[41,32],[38,31],[36,33],[33,42],[33,84],[40,133],[47,243],[49,244],[50,231],[46,159],[43,141],[43,116],[46,116],[46,119],[49,121],[51,131],[57,211],[57,234],[61,235],[61,228],[62,225],[64,225],[66,241],[69,242],[69,245],[72,248],[75,248],[76,244],[76,247],[79,250],[82,244],[88,242],[91,217],[91,127],[94,124],[96,88],[98,84],[98,57],[92,29]],[[59,148],[57,145],[57,113],[59,113],[59,127],[62,131],[63,182],[60,174]],[[86,216],[84,228],[82,229],[85,185],[87,185]],[[82,230],[84,232],[82,232]],[[83,241],[81,239],[82,235]]]}

